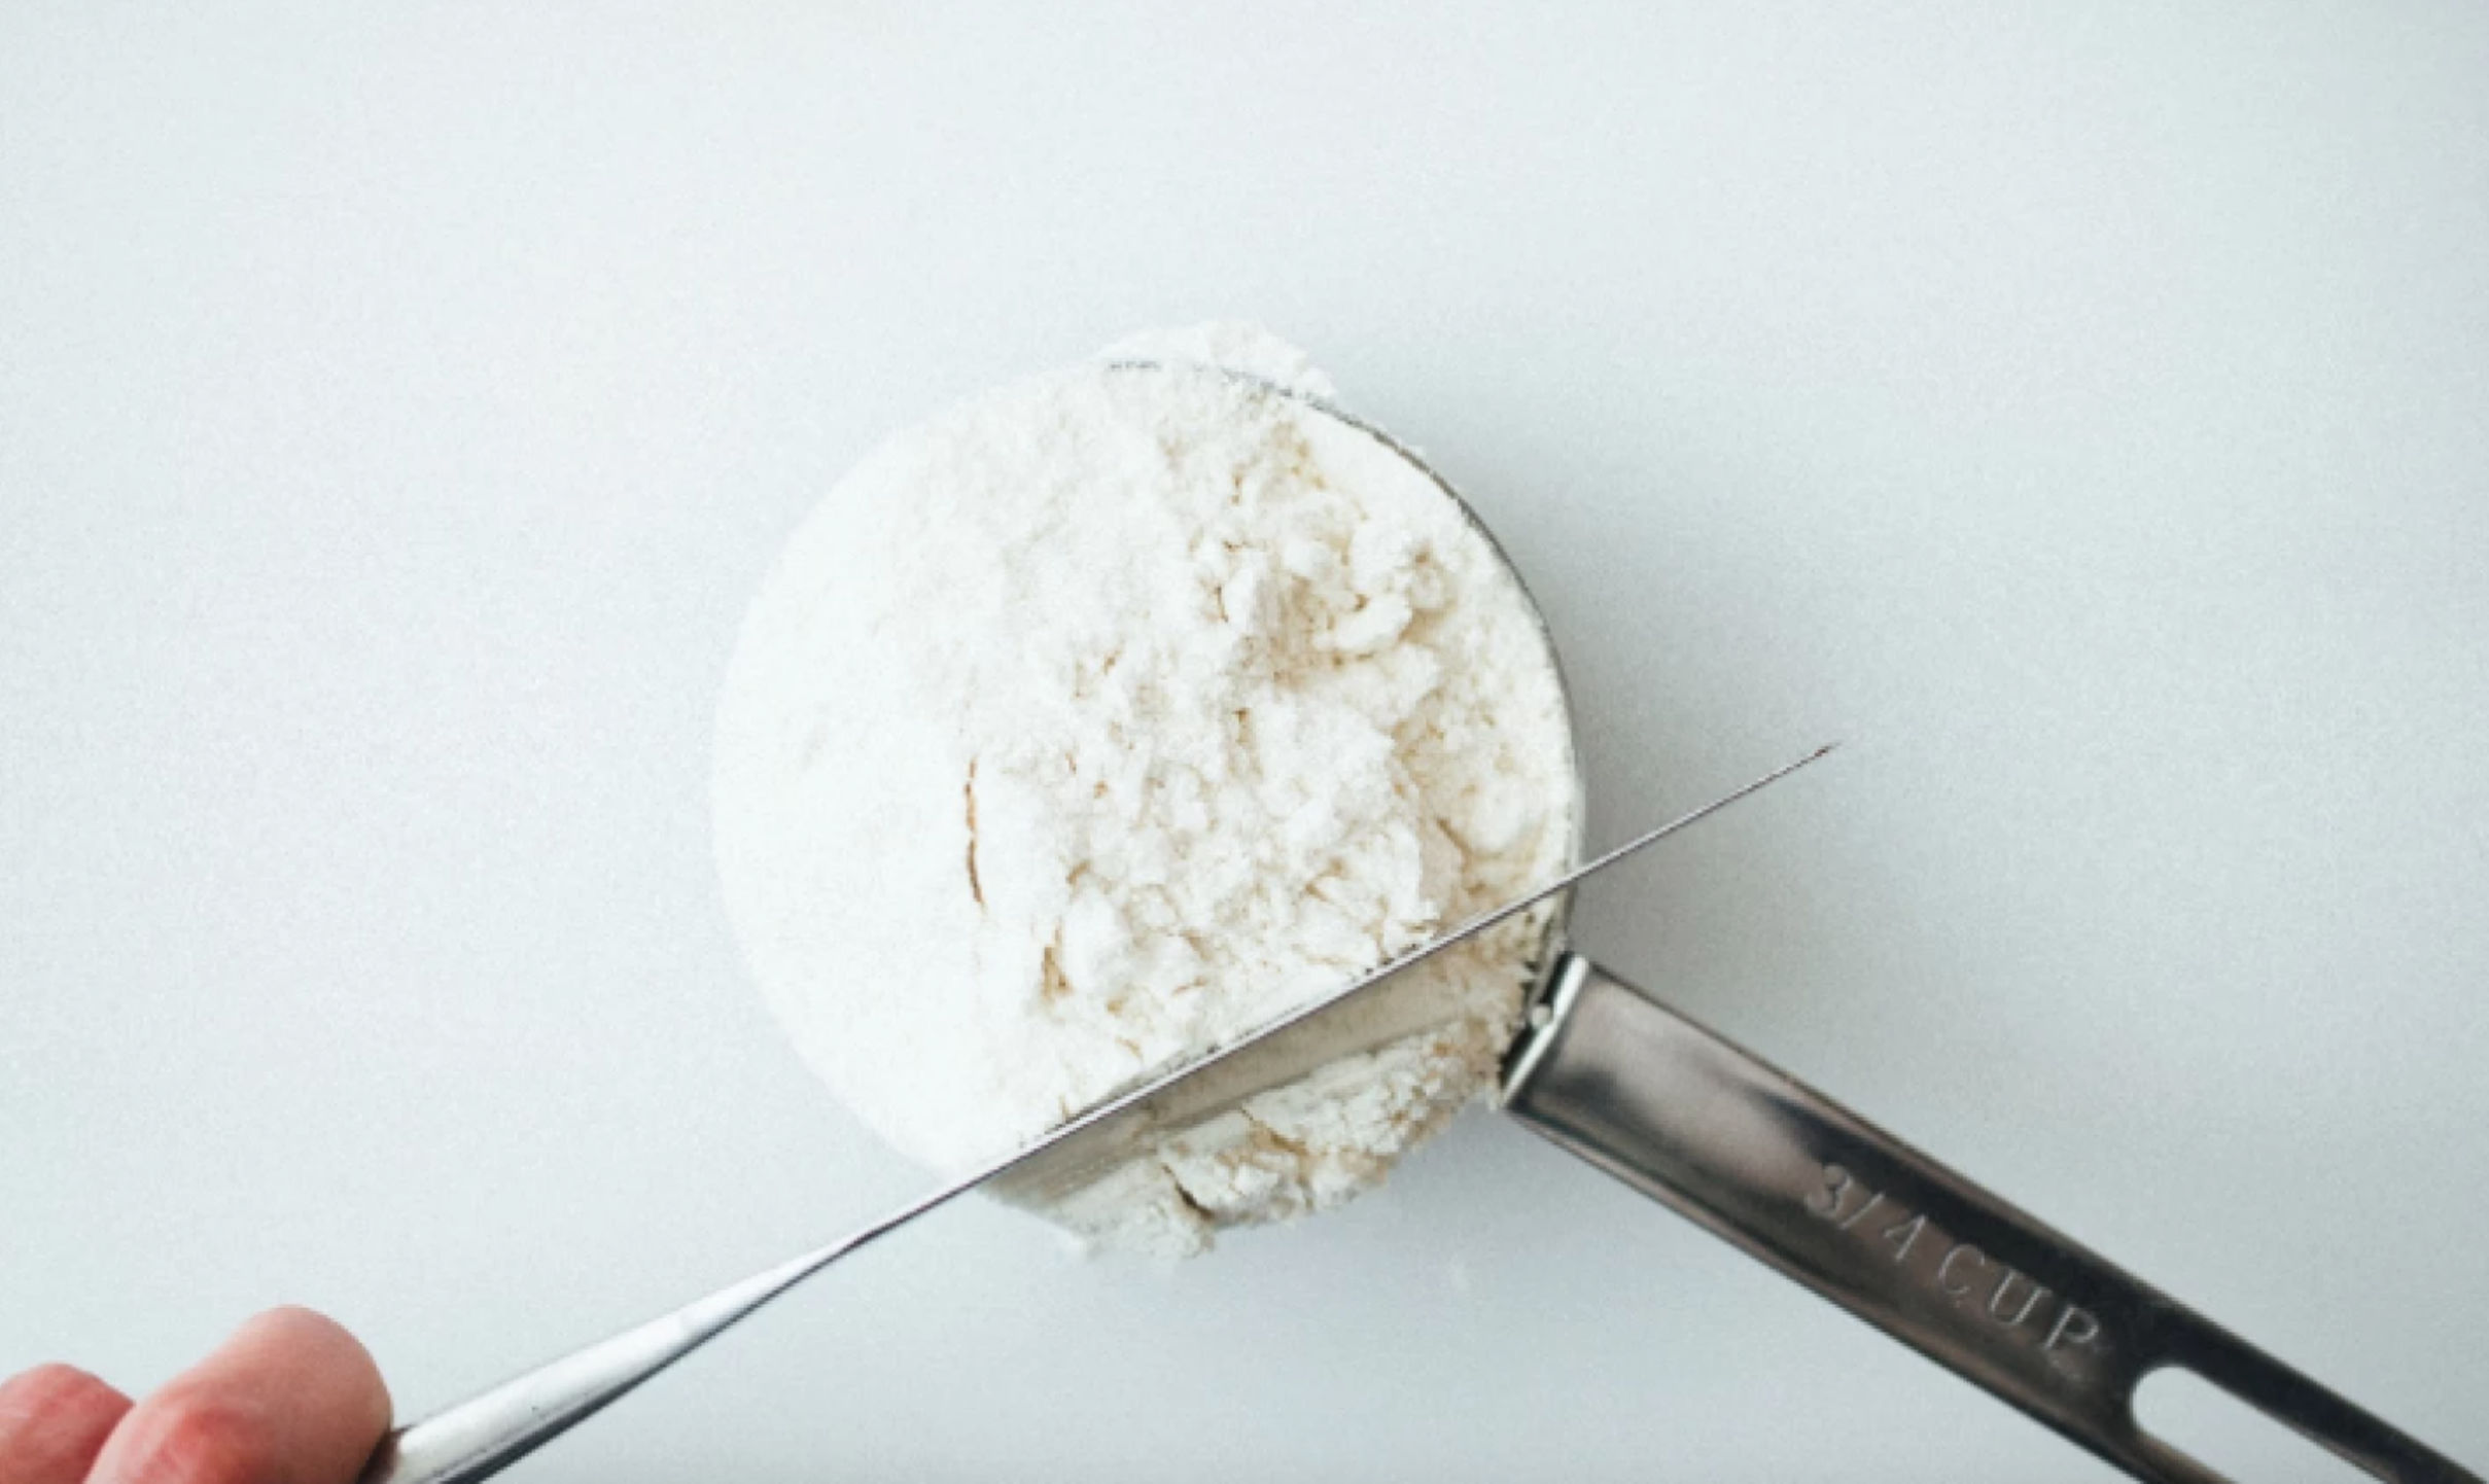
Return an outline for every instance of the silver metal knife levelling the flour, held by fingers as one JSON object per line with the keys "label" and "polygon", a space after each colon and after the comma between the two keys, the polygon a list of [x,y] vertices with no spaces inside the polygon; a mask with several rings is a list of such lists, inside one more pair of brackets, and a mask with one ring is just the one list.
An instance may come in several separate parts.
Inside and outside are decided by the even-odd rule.
{"label": "silver metal knife levelling the flour, held by fingers", "polygon": [[1700,809],[1680,814],[1573,866],[1526,896],[1481,911],[1354,984],[1289,1011],[1242,1041],[1090,1108],[1038,1143],[953,1180],[864,1230],[722,1287],[647,1325],[575,1350],[413,1427],[403,1427],[388,1434],[373,1452],[371,1464],[363,1469],[363,1484],[468,1484],[473,1479],[490,1479],[577,1427],[640,1382],[699,1350],[796,1282],[978,1185],[991,1183],[996,1190],[1008,1190],[1020,1200],[1040,1200],[1048,1190],[1078,1190],[1103,1170],[1132,1158],[1135,1148],[1152,1133],[1185,1128],[1327,1061],[1394,1041],[1411,1026],[1411,1008],[1399,1006],[1391,993],[1394,979],[1404,969],[1414,969],[1501,921],[1511,921],[1625,857],[1668,839],[1678,829],[1807,767],[1827,752],[1832,747],[1817,747],[1797,762],[1782,764]]}

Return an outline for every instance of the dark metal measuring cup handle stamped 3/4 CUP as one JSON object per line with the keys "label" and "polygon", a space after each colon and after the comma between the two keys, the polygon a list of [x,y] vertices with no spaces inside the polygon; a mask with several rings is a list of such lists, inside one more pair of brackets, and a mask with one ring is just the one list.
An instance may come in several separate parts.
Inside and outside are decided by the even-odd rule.
{"label": "dark metal measuring cup handle stamped 3/4 CUP", "polygon": [[1503,1108],[2138,1479],[2223,1479],[2136,1424],[2143,1377],[2185,1367],[2379,1479],[2479,1484],[1578,954]]}

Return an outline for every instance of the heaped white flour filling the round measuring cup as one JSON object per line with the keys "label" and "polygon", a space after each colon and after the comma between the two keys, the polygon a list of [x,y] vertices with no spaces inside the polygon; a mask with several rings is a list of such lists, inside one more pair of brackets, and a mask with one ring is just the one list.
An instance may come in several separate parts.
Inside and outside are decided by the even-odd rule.
{"label": "heaped white flour filling the round measuring cup", "polygon": [[[1526,595],[1431,481],[1237,366],[1125,341],[876,448],[727,675],[717,857],[811,1068],[941,1170],[1025,1143],[1561,871],[1573,744]],[[1441,1026],[1060,1205],[1115,1247],[1337,1205],[1478,1093],[1536,924],[1419,969]]]}

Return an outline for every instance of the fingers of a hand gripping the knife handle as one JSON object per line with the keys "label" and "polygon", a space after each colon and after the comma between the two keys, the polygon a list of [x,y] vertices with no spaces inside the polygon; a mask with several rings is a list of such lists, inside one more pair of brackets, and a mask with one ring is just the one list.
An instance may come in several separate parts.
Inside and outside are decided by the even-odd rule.
{"label": "fingers of a hand gripping the knife handle", "polygon": [[139,1404],[67,1364],[0,1384],[7,1484],[353,1484],[388,1387],[353,1335],[269,1310]]}

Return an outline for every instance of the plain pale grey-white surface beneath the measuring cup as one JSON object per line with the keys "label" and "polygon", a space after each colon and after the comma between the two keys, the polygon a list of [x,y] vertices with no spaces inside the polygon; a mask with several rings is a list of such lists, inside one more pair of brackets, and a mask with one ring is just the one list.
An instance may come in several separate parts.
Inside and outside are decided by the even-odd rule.
{"label": "plain pale grey-white surface beneath the measuring cup", "polygon": [[[515,10],[515,12],[513,12]],[[0,1372],[421,1412],[921,1175],[707,727],[876,436],[1259,316],[1571,662],[1618,971],[2489,1464],[2489,12],[0,12]],[[2108,1472],[1488,1115],[948,1213],[520,1479]]]}

